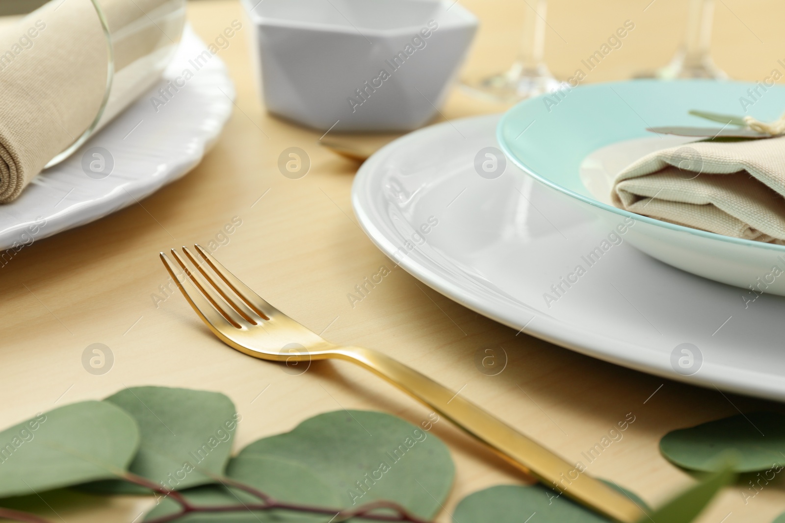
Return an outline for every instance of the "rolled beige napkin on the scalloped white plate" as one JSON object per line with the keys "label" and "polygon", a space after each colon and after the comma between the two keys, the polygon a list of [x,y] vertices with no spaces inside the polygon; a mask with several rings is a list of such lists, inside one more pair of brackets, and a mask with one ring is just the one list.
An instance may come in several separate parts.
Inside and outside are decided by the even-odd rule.
{"label": "rolled beige napkin on the scalloped white plate", "polygon": [[[171,55],[167,49],[181,34],[182,0],[100,0],[100,5],[115,53],[104,125],[160,78],[162,60]],[[49,2],[2,31],[0,203],[17,198],[93,123],[106,92],[107,49],[89,0]]]}

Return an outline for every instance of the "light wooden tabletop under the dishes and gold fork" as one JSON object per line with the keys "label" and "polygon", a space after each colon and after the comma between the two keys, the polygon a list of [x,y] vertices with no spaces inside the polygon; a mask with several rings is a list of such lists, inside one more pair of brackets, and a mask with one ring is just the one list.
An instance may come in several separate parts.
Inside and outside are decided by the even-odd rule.
{"label": "light wooden tabletop under the dishes and gold fork", "polygon": [[[649,2],[553,0],[546,50],[553,71],[571,75],[579,60],[627,19],[635,22],[635,31],[587,82],[626,78],[641,67],[666,63],[679,42],[684,5]],[[464,75],[506,67],[524,3],[462,3],[483,23]],[[206,41],[241,19],[234,0],[200,0],[189,9],[195,30]],[[778,51],[785,49],[783,11],[774,0],[756,2],[754,8],[742,0],[718,2],[717,64],[736,78],[768,76],[783,57]],[[581,452],[632,412],[636,421],[623,440],[590,468],[648,503],[661,503],[692,481],[659,455],[659,438],[667,431],[736,414],[736,408],[783,410],[515,336],[425,285],[415,285],[400,268],[351,307],[346,295],[356,284],[381,265],[392,267],[354,223],[349,198],[356,165],[319,148],[320,133],[265,113],[250,78],[245,37],[234,38],[220,53],[237,85],[237,109],[199,167],[141,205],[35,242],[0,270],[3,427],[37,411],[144,384],[228,394],[243,414],[237,448],[344,407],[384,410],[413,423],[425,419],[425,408],[351,365],[322,363],[291,376],[239,354],[206,330],[179,293],[162,293],[167,274],[158,252],[210,242],[234,216],[243,223],[215,255],[277,307],[316,332],[327,329],[324,336],[330,340],[378,348],[455,390],[464,387],[467,398],[568,459],[580,459]],[[501,109],[456,90],[443,113],[458,118]],[[311,172],[301,180],[289,180],[276,168],[280,151],[291,146],[302,147],[312,159]],[[164,300],[156,303],[156,295]],[[104,343],[114,354],[114,366],[103,376],[82,368],[82,351],[91,343]],[[484,376],[473,363],[476,351],[498,343],[506,347],[509,365],[498,376]],[[447,512],[469,492],[521,481],[516,470],[447,422],[435,430],[457,464],[455,488],[438,521],[450,521]],[[132,521],[145,503],[76,499],[57,509],[68,523]],[[746,505],[739,488],[728,489],[700,521],[771,521],[782,510],[780,478]]]}

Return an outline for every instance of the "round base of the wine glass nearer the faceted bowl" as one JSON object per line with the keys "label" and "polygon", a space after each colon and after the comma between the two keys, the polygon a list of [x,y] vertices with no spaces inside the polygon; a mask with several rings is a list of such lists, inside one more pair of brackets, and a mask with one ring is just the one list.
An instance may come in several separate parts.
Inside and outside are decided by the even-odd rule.
{"label": "round base of the wine glass nearer the faceted bowl", "polygon": [[491,102],[513,104],[568,87],[550,74],[495,74],[480,82],[462,84],[467,93]]}

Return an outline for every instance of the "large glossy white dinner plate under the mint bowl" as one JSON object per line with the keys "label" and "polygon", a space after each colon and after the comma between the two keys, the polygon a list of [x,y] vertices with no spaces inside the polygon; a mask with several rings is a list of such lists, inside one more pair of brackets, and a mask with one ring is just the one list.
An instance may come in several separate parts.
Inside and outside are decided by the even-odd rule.
{"label": "large glossy white dinner plate under the mint bowl", "polygon": [[513,329],[674,380],[785,399],[785,298],[655,260],[625,240],[636,223],[609,224],[512,162],[492,177],[503,158],[485,173],[498,118],[421,129],[363,164],[352,205],[379,249]]}

